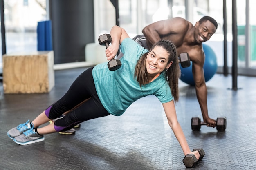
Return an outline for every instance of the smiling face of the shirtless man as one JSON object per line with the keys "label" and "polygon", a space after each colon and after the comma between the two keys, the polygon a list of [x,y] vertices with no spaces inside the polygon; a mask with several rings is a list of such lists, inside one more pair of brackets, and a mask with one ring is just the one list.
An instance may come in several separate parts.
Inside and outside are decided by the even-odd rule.
{"label": "smiling face of the shirtless man", "polygon": [[202,22],[201,24],[196,22],[194,32],[195,40],[198,43],[206,42],[211,38],[215,31],[216,27],[210,21]]}

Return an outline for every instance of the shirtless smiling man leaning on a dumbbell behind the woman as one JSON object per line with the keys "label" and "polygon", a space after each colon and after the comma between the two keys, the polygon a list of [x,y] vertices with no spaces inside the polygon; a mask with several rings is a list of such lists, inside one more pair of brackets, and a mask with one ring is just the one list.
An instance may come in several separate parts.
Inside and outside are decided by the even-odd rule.
{"label": "shirtless smiling man leaning on a dumbbell behind the woman", "polygon": [[183,52],[189,54],[192,61],[192,72],[195,82],[196,96],[201,108],[204,122],[207,126],[215,127],[216,120],[208,116],[207,109],[207,87],[204,80],[205,55],[202,42],[206,42],[215,33],[218,24],[209,16],[201,18],[195,26],[184,18],[176,17],[168,20],[154,22],[146,26],[142,33],[133,40],[150,49],[152,44],[160,39],[172,41],[177,47],[178,55]]}

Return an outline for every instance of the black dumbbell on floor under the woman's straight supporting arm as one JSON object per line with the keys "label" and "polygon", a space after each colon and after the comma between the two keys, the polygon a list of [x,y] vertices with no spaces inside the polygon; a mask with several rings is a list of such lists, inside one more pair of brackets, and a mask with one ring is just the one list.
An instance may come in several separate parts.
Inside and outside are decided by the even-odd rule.
{"label": "black dumbbell on floor under the woman's straight supporting arm", "polygon": [[200,149],[193,149],[193,151],[198,151],[199,154],[200,154],[200,157],[199,159],[197,160],[195,155],[193,154],[187,154],[184,159],[182,160],[184,165],[187,167],[187,168],[192,168],[193,166],[195,166],[195,163],[197,161],[201,161],[205,155],[205,152],[203,150],[203,148],[200,148]]}

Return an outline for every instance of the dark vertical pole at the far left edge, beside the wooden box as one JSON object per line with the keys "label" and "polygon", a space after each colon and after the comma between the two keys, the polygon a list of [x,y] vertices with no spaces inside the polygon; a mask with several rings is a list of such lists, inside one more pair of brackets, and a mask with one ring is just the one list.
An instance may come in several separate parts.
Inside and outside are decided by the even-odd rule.
{"label": "dark vertical pole at the far left edge, beside the wooden box", "polygon": [[4,55],[4,54],[6,54],[5,24],[4,24],[4,0],[0,0],[0,15],[1,15],[2,55]]}

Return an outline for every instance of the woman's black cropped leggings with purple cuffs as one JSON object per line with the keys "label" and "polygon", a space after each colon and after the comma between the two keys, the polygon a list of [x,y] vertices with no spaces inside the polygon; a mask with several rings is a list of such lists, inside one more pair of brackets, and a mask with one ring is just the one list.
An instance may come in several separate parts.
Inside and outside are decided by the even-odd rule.
{"label": "woman's black cropped leggings with purple cuffs", "polygon": [[[71,110],[65,117],[54,122],[54,128],[57,132],[69,130],[83,121],[110,115],[97,95],[92,68],[81,73],[67,93],[45,110],[45,115],[49,119],[56,119],[66,111]],[[84,102],[86,99],[88,100]],[[81,102],[84,103],[81,104]],[[72,110],[78,104],[81,106]]]}

